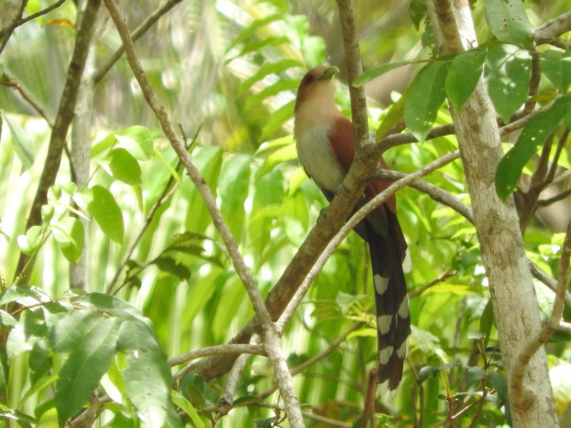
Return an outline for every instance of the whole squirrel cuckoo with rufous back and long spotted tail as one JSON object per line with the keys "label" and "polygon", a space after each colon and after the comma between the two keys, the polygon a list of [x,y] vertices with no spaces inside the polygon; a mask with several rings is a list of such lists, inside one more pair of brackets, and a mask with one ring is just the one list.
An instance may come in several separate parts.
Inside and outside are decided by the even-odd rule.
{"label": "whole squirrel cuckoo with rufous back and long spotted tail", "polygon": [[[293,135],[297,158],[309,177],[329,201],[343,181],[353,158],[352,123],[335,104],[337,67],[315,67],[301,79],[294,110]],[[384,168],[387,165],[381,159]],[[390,182],[371,181],[365,188],[362,203],[383,191]],[[380,204],[355,227],[369,244],[375,303],[381,386],[396,389],[403,377],[411,318],[408,312],[407,284],[403,261],[407,249],[396,217],[396,200]]]}

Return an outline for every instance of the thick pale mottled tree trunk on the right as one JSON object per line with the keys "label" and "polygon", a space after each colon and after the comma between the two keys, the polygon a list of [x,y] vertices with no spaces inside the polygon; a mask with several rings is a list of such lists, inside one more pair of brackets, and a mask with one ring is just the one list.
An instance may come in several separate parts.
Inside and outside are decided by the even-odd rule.
{"label": "thick pale mottled tree trunk on the right", "polygon": [[[455,53],[476,45],[468,2],[428,0],[440,52]],[[540,330],[539,308],[529,271],[513,198],[506,203],[496,194],[494,176],[503,152],[492,103],[482,80],[461,111],[452,112],[482,262],[488,276],[500,338],[501,357],[510,373],[526,342]],[[549,381],[545,350],[530,360],[524,385],[526,400],[508,390],[514,427],[556,427],[557,414]]]}

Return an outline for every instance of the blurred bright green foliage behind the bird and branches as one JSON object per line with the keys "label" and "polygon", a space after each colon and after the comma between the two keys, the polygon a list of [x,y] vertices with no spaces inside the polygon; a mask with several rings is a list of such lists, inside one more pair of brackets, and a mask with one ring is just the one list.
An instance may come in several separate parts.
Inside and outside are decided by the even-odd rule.
{"label": "blurred bright green foliage behind the bird and branches", "polygon": [[[480,42],[492,38],[483,3],[480,0],[473,4]],[[47,6],[49,3],[43,0],[29,1],[26,12],[31,14]],[[156,4],[143,0],[123,2],[121,7],[130,27],[135,28]],[[421,44],[425,23],[421,22],[417,31],[409,16],[415,13],[415,2],[366,0],[356,2],[356,7],[365,70],[431,55],[430,48]],[[534,26],[570,7],[568,1],[525,2]],[[21,83],[49,118],[57,112],[73,49],[76,14],[74,3],[67,1],[50,14],[19,27],[0,56],[2,71]],[[106,11],[100,11],[100,17],[104,15]],[[278,280],[326,204],[297,167],[291,114],[295,88],[307,68],[328,62],[344,70],[338,21],[331,0],[187,0],[165,14],[136,45],[172,120],[180,123],[189,142],[196,135],[193,158],[215,192],[263,295]],[[120,45],[108,18],[101,18],[100,23],[94,51],[96,70]],[[270,69],[268,64],[278,65]],[[415,66],[397,68],[367,84],[372,131],[383,115],[383,107],[391,98],[396,99],[396,92],[404,90],[414,72]],[[343,72],[340,79],[344,79]],[[543,79],[540,92],[549,91],[553,87]],[[345,86],[339,86],[337,102],[346,114],[350,113]],[[124,58],[95,87],[94,106],[91,171],[106,155],[98,152],[98,142],[135,125],[148,128],[155,149],[175,167],[175,155],[160,134]],[[0,274],[10,284],[19,256],[17,236],[25,233],[27,211],[42,171],[50,130],[45,120],[8,87],[0,86],[0,110],[21,124],[35,153],[34,164],[22,172],[5,120],[0,140],[0,219],[5,234],[0,237]],[[449,112],[443,106],[436,123],[449,122]],[[384,157],[389,168],[413,172],[456,147],[455,138],[442,137],[392,148]],[[564,154],[560,166],[567,169],[567,148]],[[128,272],[136,274],[128,281],[122,274],[111,290],[108,286],[152,204],[170,185],[171,174],[158,158],[141,161],[140,168],[139,190],[103,168],[90,181],[90,185],[109,189],[115,197],[125,233],[123,245],[119,245],[102,233],[95,221],[89,223],[88,290],[113,293],[139,308],[152,321],[169,357],[223,344],[246,324],[253,311],[210,216],[186,175],[179,173],[180,186],[161,205],[136,246],[132,263],[128,264]],[[428,180],[469,203],[460,161],[432,173]],[[64,158],[57,182],[69,181],[69,163]],[[497,344],[475,230],[463,217],[414,189],[403,189],[397,198],[413,267],[407,281],[414,327],[403,385],[396,395],[379,400],[377,411],[389,415],[384,419],[389,426],[412,424],[412,396],[416,413],[420,411],[417,408],[423,408],[423,426],[433,426],[447,414],[446,397],[467,393],[456,399],[471,403],[482,390],[479,379],[483,377],[494,390],[490,401],[478,414],[476,407],[467,411],[457,423],[469,426],[474,420],[477,426],[503,425],[507,422],[505,407],[501,407],[501,362],[493,353],[482,351],[486,363],[476,357],[477,361],[470,361],[472,368],[467,367],[473,349]],[[541,217],[542,221],[534,220],[525,236],[529,257],[551,274],[557,267],[562,234],[558,233],[561,223],[550,221],[549,216],[566,218],[568,201],[554,209]],[[178,238],[184,239],[188,248],[165,251],[181,233],[187,233]],[[156,261],[159,256],[163,263]],[[368,369],[376,364],[367,260],[365,246],[352,234],[328,261],[282,340],[290,366],[296,366],[326,348],[355,321],[365,322],[331,354],[295,378],[300,401],[311,406],[308,412],[345,424],[339,426],[351,426],[359,416]],[[146,267],[139,272],[143,265]],[[50,239],[38,253],[29,282],[59,298],[69,288],[68,270],[69,263]],[[441,274],[446,275],[444,280],[423,287]],[[539,283],[536,290],[542,311],[549,314],[553,293]],[[554,342],[548,345],[548,352],[558,410],[563,414],[571,401],[569,347],[565,342]],[[11,361],[5,404],[35,414],[41,420],[39,426],[52,426],[57,420],[54,414],[42,415],[37,410],[50,398],[49,389],[21,402],[23,391],[31,386],[27,358],[22,353]],[[426,378],[419,386],[415,378],[424,366],[441,369],[421,372]],[[204,383],[190,377],[190,385],[181,392],[200,410],[216,403],[224,388],[223,380]],[[264,358],[255,357],[247,365],[238,396],[262,393],[272,383],[271,366]],[[274,394],[264,403],[271,406],[276,401],[278,396]],[[130,426],[119,425],[119,414],[109,409],[102,419],[112,421],[110,426]],[[239,407],[219,423],[223,427],[252,426],[253,421],[272,414],[264,407]],[[308,422],[308,426],[330,425]]]}

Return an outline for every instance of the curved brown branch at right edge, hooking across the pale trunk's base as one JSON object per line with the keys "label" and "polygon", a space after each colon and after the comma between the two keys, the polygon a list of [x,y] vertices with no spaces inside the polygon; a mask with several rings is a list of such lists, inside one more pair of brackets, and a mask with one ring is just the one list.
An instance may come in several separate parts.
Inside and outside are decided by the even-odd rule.
{"label": "curved brown branch at right edge, hooking across the pale trunk's base", "polygon": [[557,291],[553,302],[553,309],[549,320],[542,326],[540,332],[530,340],[521,350],[516,364],[514,364],[512,373],[510,373],[510,387],[514,392],[514,396],[518,397],[516,405],[518,407],[528,406],[532,401],[533,391],[525,388],[523,379],[529,360],[534,356],[538,349],[541,348],[551,337],[551,335],[560,328],[561,317],[563,316],[563,307],[565,301],[565,292],[567,290],[569,259],[571,256],[571,221],[565,233],[563,247],[561,249],[561,261],[559,265],[559,276],[557,280]]}

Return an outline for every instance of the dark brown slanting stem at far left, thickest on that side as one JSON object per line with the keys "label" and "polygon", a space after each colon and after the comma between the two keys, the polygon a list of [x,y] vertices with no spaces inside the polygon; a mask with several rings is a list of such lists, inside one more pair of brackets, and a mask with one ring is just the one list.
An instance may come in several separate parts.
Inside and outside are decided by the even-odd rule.
{"label": "dark brown slanting stem at far left, thickest on that side", "polygon": [[[58,113],[55,117],[54,127],[50,135],[50,143],[47,150],[45,165],[39,179],[38,189],[34,196],[34,201],[26,221],[26,231],[35,225],[42,223],[42,205],[47,201],[47,189],[55,183],[55,176],[59,170],[62,159],[63,146],[67,135],[67,130],[73,119],[75,101],[77,100],[79,83],[83,75],[83,68],[87,59],[87,52],[93,36],[95,17],[99,9],[99,0],[88,0],[83,11],[83,19],[79,25],[75,46],[71,55],[70,65],[67,68],[67,78],[63,86],[62,96],[59,102]],[[18,260],[16,276],[22,272],[28,257],[21,253]]]}

